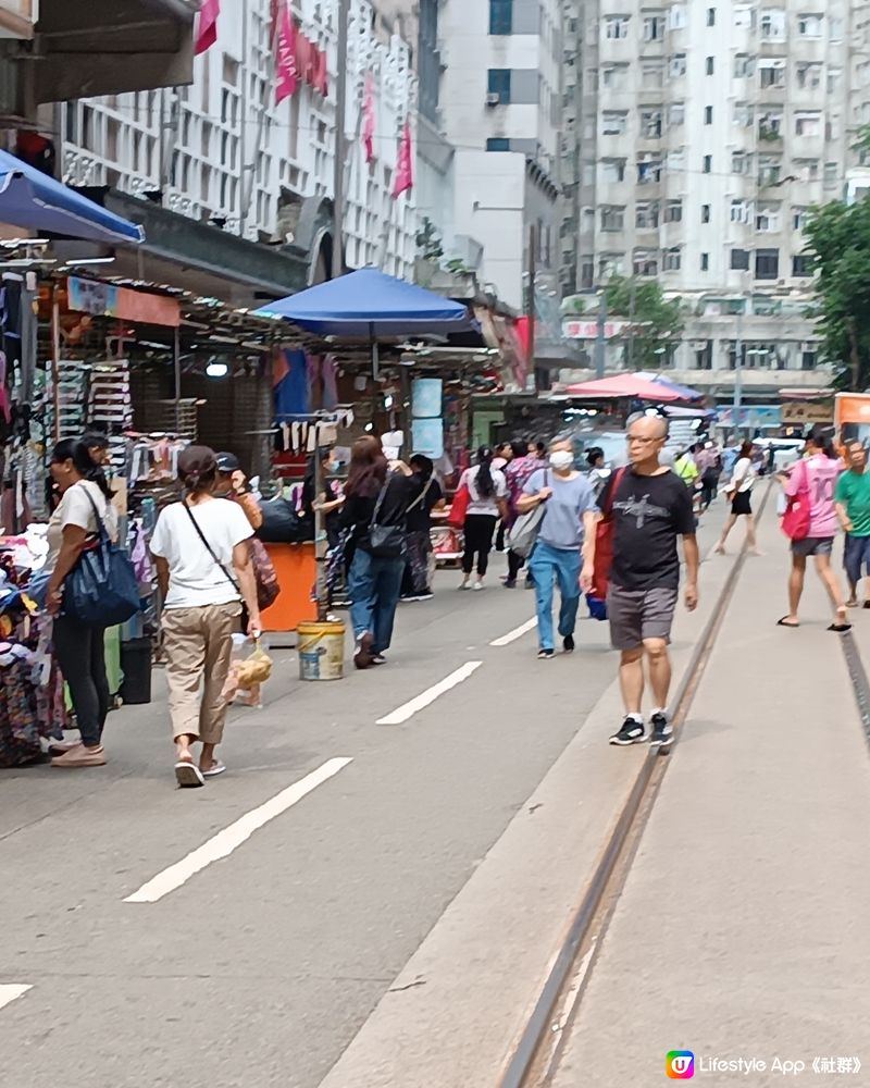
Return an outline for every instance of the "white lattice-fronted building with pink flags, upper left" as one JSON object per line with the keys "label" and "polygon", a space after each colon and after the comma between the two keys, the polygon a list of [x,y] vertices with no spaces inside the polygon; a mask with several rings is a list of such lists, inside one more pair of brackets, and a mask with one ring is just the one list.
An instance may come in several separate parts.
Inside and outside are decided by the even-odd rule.
{"label": "white lattice-fronted building with pink flags, upper left", "polygon": [[[347,263],[410,276],[415,189],[391,198],[406,118],[417,140],[414,41],[368,0],[351,0],[348,26],[345,251]],[[61,132],[64,181],[160,194],[165,208],[250,240],[289,240],[307,198],[333,191],[337,4],[293,4],[316,60],[296,92],[275,104],[270,0],[222,5],[219,38],[196,58],[190,86],[67,101]],[[373,77],[374,159],[361,139],[366,74]]]}

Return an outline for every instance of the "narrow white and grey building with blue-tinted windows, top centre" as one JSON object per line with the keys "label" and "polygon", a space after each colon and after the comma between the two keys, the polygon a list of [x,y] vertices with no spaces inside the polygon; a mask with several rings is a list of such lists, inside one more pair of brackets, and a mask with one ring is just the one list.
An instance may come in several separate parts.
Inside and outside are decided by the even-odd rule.
{"label": "narrow white and grey building with blue-tinted windows, top centre", "polygon": [[456,230],[483,244],[484,281],[518,309],[532,226],[538,285],[558,285],[561,26],[561,0],[444,0],[438,13],[438,110],[456,148]]}

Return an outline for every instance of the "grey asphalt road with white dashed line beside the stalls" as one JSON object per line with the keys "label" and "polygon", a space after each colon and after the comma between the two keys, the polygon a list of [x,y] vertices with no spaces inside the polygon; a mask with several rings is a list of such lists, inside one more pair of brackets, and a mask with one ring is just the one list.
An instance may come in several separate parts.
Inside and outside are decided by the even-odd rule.
{"label": "grey asphalt road with white dashed line beside the stalls", "polygon": [[[160,678],[107,767],[0,775],[1,1085],[316,1088],[613,679],[606,625],[539,663],[532,632],[490,645],[531,593],[457,581],[401,607],[383,669],[303,684],[277,654],[203,790],[174,788]],[[228,856],[189,857],[226,828]]]}

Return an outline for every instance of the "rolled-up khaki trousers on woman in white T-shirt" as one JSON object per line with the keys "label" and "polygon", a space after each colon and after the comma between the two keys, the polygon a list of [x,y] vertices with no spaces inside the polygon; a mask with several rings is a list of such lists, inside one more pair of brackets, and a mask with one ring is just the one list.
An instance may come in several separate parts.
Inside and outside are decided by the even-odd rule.
{"label": "rolled-up khaki trousers on woman in white T-shirt", "polygon": [[240,615],[237,601],[164,609],[161,626],[173,739],[187,733],[203,744],[221,743],[227,708],[221,691],[229,672],[233,633],[238,630]]}

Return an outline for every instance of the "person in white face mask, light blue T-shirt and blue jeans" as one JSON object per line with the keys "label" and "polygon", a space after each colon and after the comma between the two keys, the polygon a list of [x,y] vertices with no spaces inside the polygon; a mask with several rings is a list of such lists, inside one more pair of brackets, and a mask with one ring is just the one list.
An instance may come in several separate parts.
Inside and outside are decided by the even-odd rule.
{"label": "person in white face mask, light blue T-shirt and blue jeans", "polygon": [[[595,535],[598,508],[592,484],[574,468],[570,440],[550,445],[549,468],[538,469],[523,487],[517,508],[527,514],[546,504],[544,519],[529,561],[535,583],[538,658],[555,657],[552,635],[554,582],[559,582],[559,635],[567,654],[574,650],[574,629],[580,605],[581,580],[592,583],[586,542]],[[581,569],[582,568],[582,569]]]}

